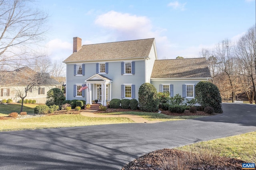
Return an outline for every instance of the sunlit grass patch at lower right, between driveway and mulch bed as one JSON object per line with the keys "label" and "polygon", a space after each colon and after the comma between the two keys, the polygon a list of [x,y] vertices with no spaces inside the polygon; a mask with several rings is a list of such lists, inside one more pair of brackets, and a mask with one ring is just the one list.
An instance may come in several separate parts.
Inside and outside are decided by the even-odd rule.
{"label": "sunlit grass patch at lower right, between driveway and mulch bed", "polygon": [[220,156],[238,158],[248,162],[256,162],[256,132],[225,137],[211,141],[178,147],[180,150],[196,150],[195,148],[214,150]]}

